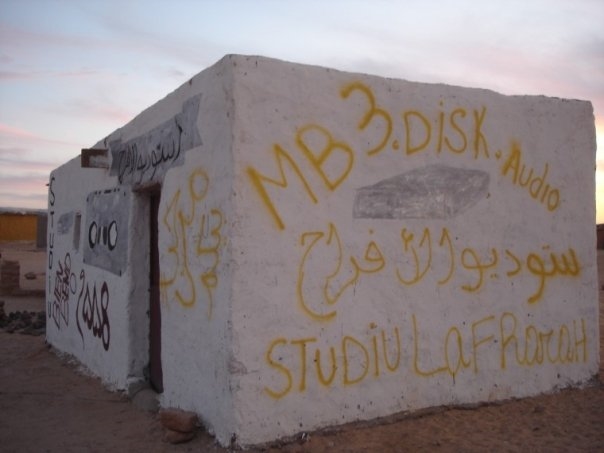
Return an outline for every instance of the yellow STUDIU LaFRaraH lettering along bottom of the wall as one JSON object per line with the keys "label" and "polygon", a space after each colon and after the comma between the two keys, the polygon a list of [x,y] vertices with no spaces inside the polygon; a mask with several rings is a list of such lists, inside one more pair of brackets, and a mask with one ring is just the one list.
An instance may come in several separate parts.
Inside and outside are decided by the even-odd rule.
{"label": "yellow STUDIU LaFRaraH lettering along bottom of the wall", "polygon": [[[492,374],[510,367],[587,362],[585,319],[545,329],[522,325],[518,319],[514,313],[503,312],[470,322],[469,327],[445,325],[435,331],[433,323],[429,328],[420,326],[416,315],[411,314],[408,322],[401,320],[412,337],[408,354],[403,353],[399,326],[376,331],[378,326],[370,323],[363,334],[342,332],[335,340],[337,345],[324,344],[318,336],[278,337],[266,349],[272,384],[264,391],[280,399],[292,392],[345,388],[394,373],[413,373],[425,379],[448,375],[454,382],[462,373]],[[491,357],[499,360],[497,368],[493,368],[497,361],[489,360]],[[489,364],[488,369],[479,366],[481,361]]]}

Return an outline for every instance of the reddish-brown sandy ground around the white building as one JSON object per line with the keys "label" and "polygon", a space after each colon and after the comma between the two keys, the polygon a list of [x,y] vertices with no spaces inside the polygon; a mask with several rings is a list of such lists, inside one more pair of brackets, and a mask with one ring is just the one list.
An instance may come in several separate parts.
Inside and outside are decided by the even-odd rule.
{"label": "reddish-brown sandy ground around the white building", "polygon": [[[24,250],[19,250],[19,248]],[[45,254],[0,244],[16,257],[23,281],[44,288]],[[22,260],[22,261],[21,261]],[[604,252],[598,252],[604,284]],[[7,312],[42,310],[41,298],[8,298]],[[600,291],[599,381],[583,389],[478,408],[438,408],[379,423],[309,433],[304,440],[252,452],[604,451],[604,291]],[[226,452],[202,429],[186,444],[163,441],[155,414],[105,389],[78,365],[50,350],[43,337],[0,332],[0,451]]]}

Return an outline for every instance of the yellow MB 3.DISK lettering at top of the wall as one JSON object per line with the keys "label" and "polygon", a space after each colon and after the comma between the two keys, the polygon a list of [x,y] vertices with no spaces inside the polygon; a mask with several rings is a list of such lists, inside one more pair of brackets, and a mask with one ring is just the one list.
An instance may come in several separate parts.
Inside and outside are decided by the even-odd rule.
{"label": "yellow MB 3.DISK lettering at top of the wall", "polygon": [[[465,109],[459,106],[445,109],[441,101],[437,112],[403,110],[401,113],[403,137],[394,137],[393,116],[379,104],[369,86],[354,81],[340,90],[340,99],[346,103],[352,116],[360,116],[354,124],[353,136],[343,139],[320,123],[310,123],[296,129],[295,151],[279,144],[272,145],[274,166],[271,171],[259,170],[257,165],[247,167],[249,182],[279,230],[287,228],[280,205],[285,201],[283,189],[289,193],[292,174],[312,203],[318,203],[320,183],[324,194],[335,192],[350,178],[359,156],[375,158],[387,146],[397,151],[404,144],[404,155],[412,156],[427,150],[437,155],[472,153],[474,159],[490,158],[489,145],[483,130],[486,107]],[[358,109],[358,110],[355,110]],[[350,129],[347,129],[350,132]],[[344,135],[344,133],[341,133]],[[353,144],[356,144],[353,145]],[[275,169],[276,168],[276,176]],[[286,172],[287,169],[287,172]],[[289,177],[289,179],[288,179]],[[313,178],[314,177],[314,178]]]}

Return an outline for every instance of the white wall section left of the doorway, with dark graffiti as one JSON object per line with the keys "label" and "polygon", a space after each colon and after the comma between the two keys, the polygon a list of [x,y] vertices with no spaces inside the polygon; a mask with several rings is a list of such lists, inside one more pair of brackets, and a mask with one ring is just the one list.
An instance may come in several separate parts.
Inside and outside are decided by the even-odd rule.
{"label": "white wall section left of the doorway, with dark graffiti", "polygon": [[111,253],[127,246],[128,210],[103,204],[103,216],[94,213],[99,199],[118,197],[127,207],[131,196],[112,187],[103,170],[82,171],[79,158],[50,175],[47,339],[117,388],[125,387],[127,377],[129,273],[109,272],[85,256],[92,249]]}

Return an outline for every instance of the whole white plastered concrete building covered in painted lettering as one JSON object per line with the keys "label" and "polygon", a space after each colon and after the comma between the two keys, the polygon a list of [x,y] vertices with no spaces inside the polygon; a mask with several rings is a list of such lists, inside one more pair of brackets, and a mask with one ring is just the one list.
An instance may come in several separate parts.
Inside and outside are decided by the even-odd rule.
{"label": "whole white plastered concrete building covered in painted lettering", "polygon": [[589,102],[227,56],[52,172],[48,341],[227,444],[598,371]]}

